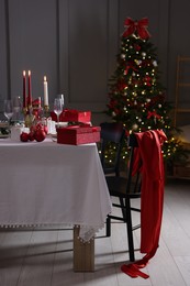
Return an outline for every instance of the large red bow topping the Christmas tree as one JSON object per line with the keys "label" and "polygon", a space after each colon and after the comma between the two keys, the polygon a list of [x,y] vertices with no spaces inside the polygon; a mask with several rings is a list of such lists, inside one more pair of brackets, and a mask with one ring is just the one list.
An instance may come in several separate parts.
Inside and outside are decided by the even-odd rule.
{"label": "large red bow topping the Christmas tree", "polygon": [[124,26],[126,26],[126,30],[123,33],[124,37],[127,37],[132,34],[134,34],[135,32],[143,40],[146,40],[150,36],[150,34],[148,33],[148,31],[146,29],[148,26],[147,18],[143,18],[139,21],[133,21],[131,18],[126,18],[126,20],[124,22]]}

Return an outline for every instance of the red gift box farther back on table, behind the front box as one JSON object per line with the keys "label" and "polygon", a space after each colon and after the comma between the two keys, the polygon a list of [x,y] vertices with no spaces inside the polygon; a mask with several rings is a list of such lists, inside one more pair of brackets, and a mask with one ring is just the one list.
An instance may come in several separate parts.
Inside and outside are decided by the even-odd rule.
{"label": "red gift box farther back on table, behind the front box", "polygon": [[[57,116],[51,112],[51,117],[54,121],[57,121]],[[60,122],[90,122],[91,111],[79,111],[76,109],[65,109],[59,116]]]}

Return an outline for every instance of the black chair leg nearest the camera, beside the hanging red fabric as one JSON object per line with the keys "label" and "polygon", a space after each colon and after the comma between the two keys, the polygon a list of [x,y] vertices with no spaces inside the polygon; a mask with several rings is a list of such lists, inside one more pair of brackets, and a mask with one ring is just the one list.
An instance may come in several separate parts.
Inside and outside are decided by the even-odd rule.
{"label": "black chair leg nearest the camera, beside the hanging red fabric", "polygon": [[128,252],[130,252],[130,261],[135,261],[134,254],[134,242],[133,242],[133,226],[132,226],[132,213],[131,213],[131,202],[130,198],[125,200],[126,206],[126,230],[127,230],[127,239],[128,239]]}

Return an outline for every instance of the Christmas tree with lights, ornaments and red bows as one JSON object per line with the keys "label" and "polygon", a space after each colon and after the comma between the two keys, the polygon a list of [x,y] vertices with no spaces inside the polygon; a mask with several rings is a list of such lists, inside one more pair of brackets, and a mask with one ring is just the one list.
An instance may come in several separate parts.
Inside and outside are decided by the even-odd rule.
{"label": "Christmas tree with lights, ornaments and red bows", "polygon": [[[168,141],[164,157],[168,161],[183,160],[182,146],[174,134],[172,107],[166,101],[166,90],[160,84],[156,48],[149,41],[148,20],[125,20],[121,36],[118,66],[109,84],[107,114],[123,122],[126,134],[161,129]],[[112,152],[109,151],[111,156]],[[123,158],[127,156],[127,147]]]}

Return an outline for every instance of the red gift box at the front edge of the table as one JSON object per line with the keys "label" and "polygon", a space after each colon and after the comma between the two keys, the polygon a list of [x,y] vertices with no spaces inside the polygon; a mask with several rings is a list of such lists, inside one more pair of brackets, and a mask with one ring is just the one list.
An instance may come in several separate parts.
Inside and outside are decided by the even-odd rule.
{"label": "red gift box at the front edge of the table", "polygon": [[72,125],[57,129],[57,143],[79,145],[100,141],[100,127]]}

